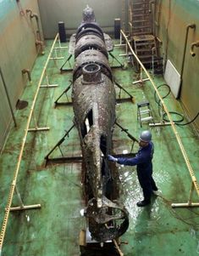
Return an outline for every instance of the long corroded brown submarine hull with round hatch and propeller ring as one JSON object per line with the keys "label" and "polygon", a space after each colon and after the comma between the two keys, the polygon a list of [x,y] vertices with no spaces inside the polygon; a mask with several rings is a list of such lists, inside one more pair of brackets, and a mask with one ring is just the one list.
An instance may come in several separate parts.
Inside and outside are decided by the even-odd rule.
{"label": "long corroded brown submarine hull with round hatch and propeller ring", "polygon": [[86,165],[86,217],[92,238],[104,242],[121,236],[129,222],[124,207],[110,201],[112,173],[107,156],[112,147],[116,96],[102,29],[90,18],[83,20],[75,36],[72,99]]}

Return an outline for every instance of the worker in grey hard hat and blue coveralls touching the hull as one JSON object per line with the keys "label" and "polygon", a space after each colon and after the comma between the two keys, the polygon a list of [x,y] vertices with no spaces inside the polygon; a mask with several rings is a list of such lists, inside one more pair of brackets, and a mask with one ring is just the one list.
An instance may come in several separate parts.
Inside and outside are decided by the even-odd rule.
{"label": "worker in grey hard hat and blue coveralls touching the hull", "polygon": [[158,191],[158,187],[152,178],[152,156],[154,146],[152,143],[152,134],[146,130],[141,132],[139,138],[139,151],[133,158],[126,157],[113,157],[108,156],[108,160],[112,162],[118,162],[123,165],[137,166],[137,177],[141,185],[144,199],[141,202],[137,202],[138,207],[144,207],[151,203],[151,196],[153,191]]}

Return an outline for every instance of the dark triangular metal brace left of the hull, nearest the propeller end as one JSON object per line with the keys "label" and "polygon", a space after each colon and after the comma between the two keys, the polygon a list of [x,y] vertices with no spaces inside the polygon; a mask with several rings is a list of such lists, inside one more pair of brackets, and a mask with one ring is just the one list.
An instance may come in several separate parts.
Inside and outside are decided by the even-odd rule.
{"label": "dark triangular metal brace left of the hull, nearest the propeller end", "polygon": [[[58,143],[56,145],[53,146],[53,149],[47,154],[47,156],[44,157],[44,159],[46,160],[46,167],[47,164],[49,162],[51,163],[64,163],[64,162],[81,162],[82,160],[82,156],[72,156],[72,157],[66,157],[63,154],[63,151],[60,148],[60,145],[63,144],[64,140],[66,137],[69,137],[69,132],[75,128],[75,124],[73,124],[69,130],[64,134],[64,136],[62,137],[62,139],[59,139]],[[62,157],[53,157],[53,158],[49,158],[49,156],[53,153],[53,151],[55,151],[56,149],[59,149],[59,151],[61,152]]]}

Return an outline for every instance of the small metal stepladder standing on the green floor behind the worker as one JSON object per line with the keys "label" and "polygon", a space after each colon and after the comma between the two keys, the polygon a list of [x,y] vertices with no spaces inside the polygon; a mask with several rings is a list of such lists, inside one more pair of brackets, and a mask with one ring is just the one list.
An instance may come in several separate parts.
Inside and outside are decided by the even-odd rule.
{"label": "small metal stepladder standing on the green floor behind the worker", "polygon": [[146,121],[153,121],[152,110],[148,101],[142,101],[137,103],[137,121],[141,123]]}

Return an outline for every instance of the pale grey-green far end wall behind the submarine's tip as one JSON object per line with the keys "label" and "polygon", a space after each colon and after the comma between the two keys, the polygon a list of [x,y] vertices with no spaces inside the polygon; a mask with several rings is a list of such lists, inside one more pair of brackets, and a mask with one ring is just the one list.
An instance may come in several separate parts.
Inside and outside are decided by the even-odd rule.
{"label": "pale grey-green far end wall behind the submarine's tip", "polygon": [[72,34],[80,26],[82,10],[88,4],[103,31],[113,32],[115,18],[121,18],[121,0],[38,0],[41,23],[45,38],[54,38],[58,32],[58,21],[64,21],[67,34]]}

